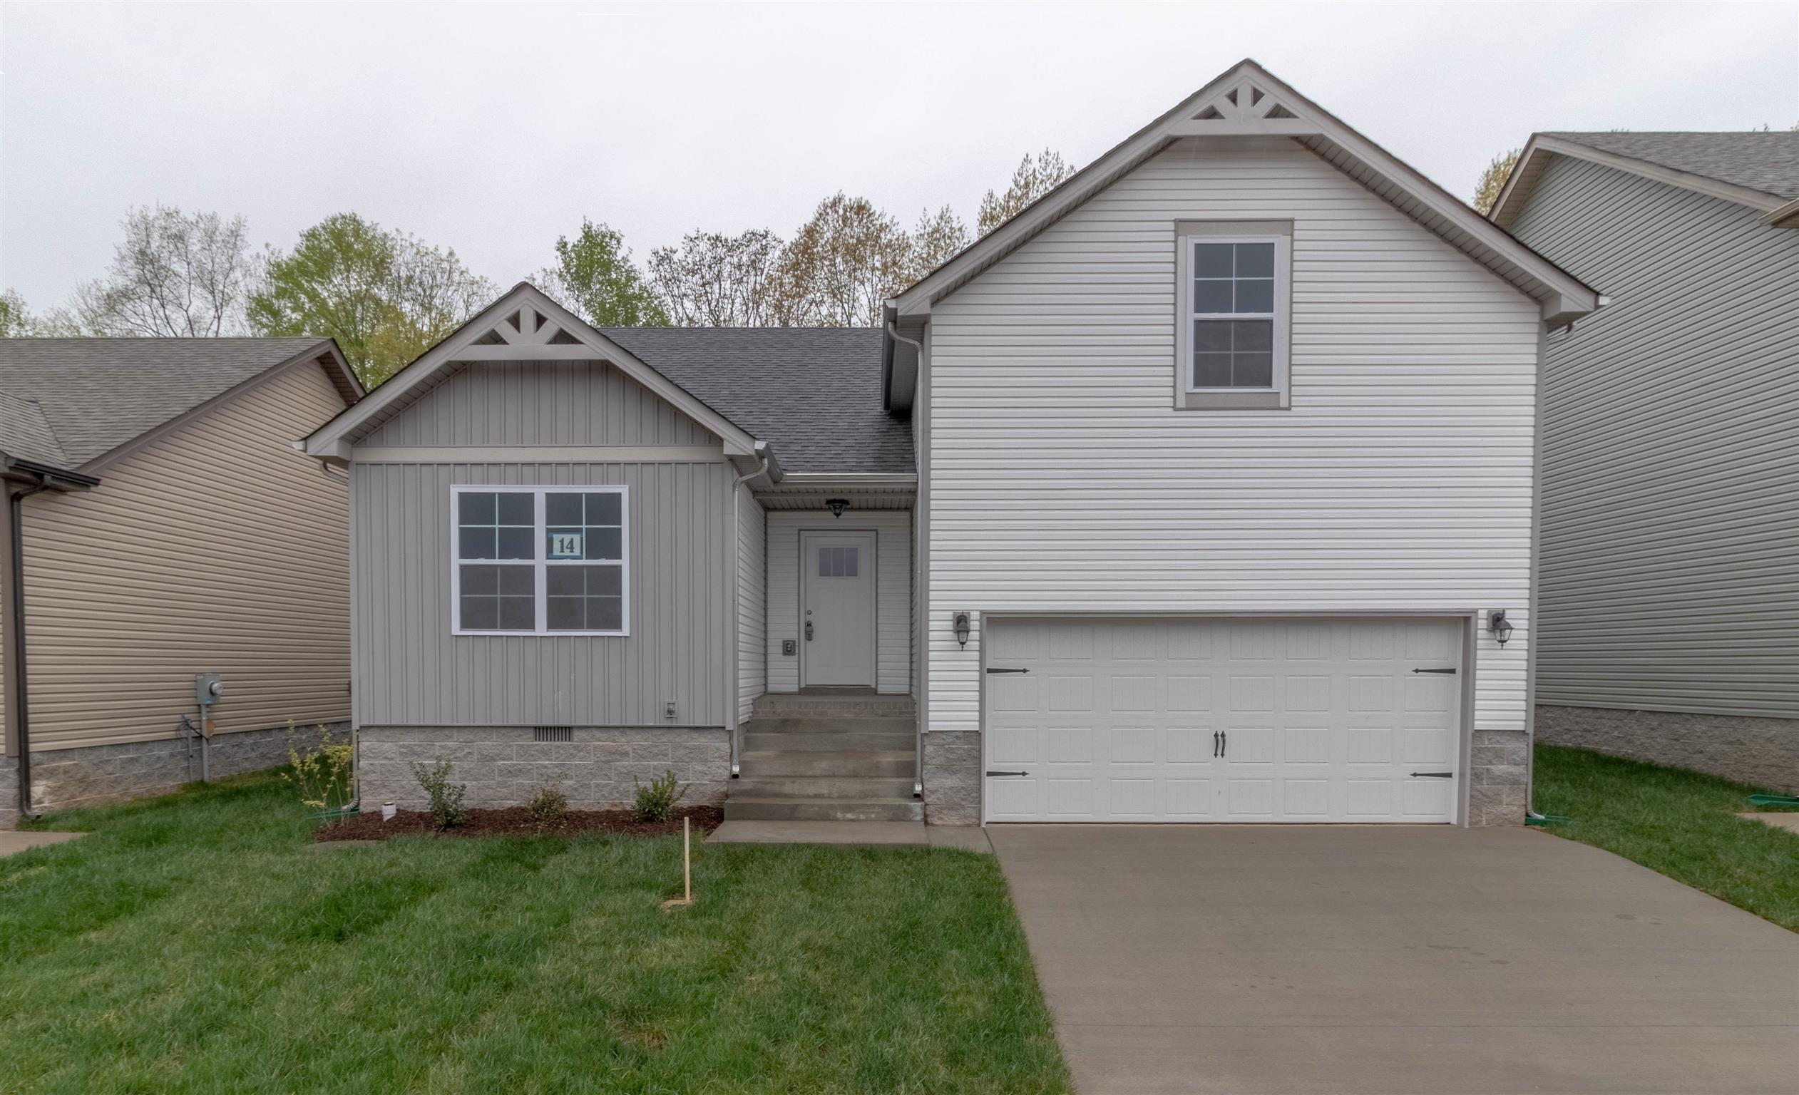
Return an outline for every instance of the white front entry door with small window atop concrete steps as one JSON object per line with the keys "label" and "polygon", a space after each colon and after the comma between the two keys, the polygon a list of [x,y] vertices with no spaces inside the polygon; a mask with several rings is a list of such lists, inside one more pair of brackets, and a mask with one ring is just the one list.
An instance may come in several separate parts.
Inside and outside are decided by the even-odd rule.
{"label": "white front entry door with small window atop concrete steps", "polygon": [[801,685],[874,687],[874,534],[806,532]]}

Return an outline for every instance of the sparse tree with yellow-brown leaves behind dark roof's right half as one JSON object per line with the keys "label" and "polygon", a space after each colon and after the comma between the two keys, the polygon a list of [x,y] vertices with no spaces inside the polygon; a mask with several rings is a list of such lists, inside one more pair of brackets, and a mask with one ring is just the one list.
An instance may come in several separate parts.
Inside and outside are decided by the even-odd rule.
{"label": "sparse tree with yellow-brown leaves behind dark roof's right half", "polygon": [[892,216],[842,191],[781,252],[777,315],[795,327],[873,327],[905,286],[912,241]]}

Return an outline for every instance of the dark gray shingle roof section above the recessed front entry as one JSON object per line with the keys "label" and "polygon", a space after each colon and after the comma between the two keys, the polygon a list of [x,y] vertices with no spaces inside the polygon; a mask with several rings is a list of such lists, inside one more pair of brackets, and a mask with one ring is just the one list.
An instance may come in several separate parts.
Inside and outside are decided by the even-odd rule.
{"label": "dark gray shingle roof section above the recessed front entry", "polygon": [[766,441],[786,471],[912,471],[882,410],[876,327],[604,327],[640,361]]}

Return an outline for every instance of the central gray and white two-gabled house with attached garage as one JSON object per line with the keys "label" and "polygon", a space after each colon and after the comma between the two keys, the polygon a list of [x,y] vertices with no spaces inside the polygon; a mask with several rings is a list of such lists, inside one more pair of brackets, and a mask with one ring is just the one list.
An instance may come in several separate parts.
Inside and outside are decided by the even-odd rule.
{"label": "central gray and white two-gabled house with attached garage", "polygon": [[882,331],[520,284],[306,441],[363,798],[1518,823],[1538,347],[1599,302],[1250,61]]}

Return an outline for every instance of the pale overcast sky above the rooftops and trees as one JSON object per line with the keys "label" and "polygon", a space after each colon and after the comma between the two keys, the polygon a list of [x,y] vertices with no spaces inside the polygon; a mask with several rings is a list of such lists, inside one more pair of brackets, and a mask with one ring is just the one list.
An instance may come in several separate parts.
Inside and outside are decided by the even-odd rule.
{"label": "pale overcast sky above the rooftops and trees", "polygon": [[1252,56],[1466,196],[1533,129],[1799,119],[1799,5],[0,5],[0,286],[61,304],[130,205],[257,243],[356,210],[502,286],[581,218],[642,259],[819,198],[973,219]]}

